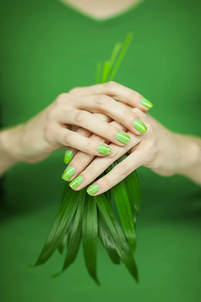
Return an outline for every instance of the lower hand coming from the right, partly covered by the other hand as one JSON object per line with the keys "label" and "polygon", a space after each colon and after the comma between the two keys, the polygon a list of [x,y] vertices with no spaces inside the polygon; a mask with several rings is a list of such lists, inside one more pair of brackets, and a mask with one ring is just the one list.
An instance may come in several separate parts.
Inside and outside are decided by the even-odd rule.
{"label": "lower hand coming from the right, partly covered by the other hand", "polygon": [[[88,187],[88,194],[104,193],[140,166],[150,168],[163,176],[176,173],[184,174],[201,183],[201,148],[195,142],[196,140],[170,132],[154,118],[139,109],[131,110],[145,122],[148,128],[147,132],[139,136],[128,131],[127,134],[131,137],[130,143],[125,147],[117,146],[114,143],[110,144],[112,156],[106,158],[96,157],[94,159],[93,156],[78,152],[71,161],[70,167],[66,169],[66,171],[71,169],[74,172],[73,177],[70,178],[70,187],[74,190],[80,190],[87,186],[127,152],[130,152],[130,155],[125,160],[106,176]],[[126,131],[115,121],[111,124]],[[91,138],[93,137],[92,135]],[[95,139],[97,139],[96,136]],[[100,141],[103,140],[100,139]]]}

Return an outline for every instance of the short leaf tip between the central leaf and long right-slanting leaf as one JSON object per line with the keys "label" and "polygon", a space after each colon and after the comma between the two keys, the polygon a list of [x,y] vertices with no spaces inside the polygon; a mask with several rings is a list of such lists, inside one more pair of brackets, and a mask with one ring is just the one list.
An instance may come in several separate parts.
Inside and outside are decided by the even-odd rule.
{"label": "short leaf tip between the central leaf and long right-slanting leaf", "polygon": [[108,233],[104,221],[98,213],[98,236],[103,246],[105,247],[111,261],[114,264],[120,264],[120,257],[116,251],[114,243],[112,243],[110,234]]}

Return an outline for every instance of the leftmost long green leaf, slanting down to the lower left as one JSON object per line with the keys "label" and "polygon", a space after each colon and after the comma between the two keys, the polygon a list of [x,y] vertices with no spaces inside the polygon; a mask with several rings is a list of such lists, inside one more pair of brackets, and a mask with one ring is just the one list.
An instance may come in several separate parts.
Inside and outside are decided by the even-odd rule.
{"label": "leftmost long green leaf, slanting down to the lower left", "polygon": [[71,194],[71,192],[66,194],[66,197],[64,198],[57,212],[48,239],[35,265],[45,263],[54,253],[59,243],[63,239],[77,209],[77,205],[79,203],[79,199],[77,198],[78,194],[79,192],[76,191],[73,191],[73,194]]}

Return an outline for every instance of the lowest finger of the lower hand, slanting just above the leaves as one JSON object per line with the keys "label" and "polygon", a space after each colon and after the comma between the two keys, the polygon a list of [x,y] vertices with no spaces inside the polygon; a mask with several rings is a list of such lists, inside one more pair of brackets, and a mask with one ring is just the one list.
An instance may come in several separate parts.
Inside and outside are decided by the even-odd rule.
{"label": "lowest finger of the lower hand, slanting just above the leaves", "polygon": [[142,152],[140,148],[137,148],[124,161],[115,166],[107,175],[90,185],[87,188],[87,193],[94,196],[108,191],[125,179],[133,171],[142,166],[143,163],[144,159]]}

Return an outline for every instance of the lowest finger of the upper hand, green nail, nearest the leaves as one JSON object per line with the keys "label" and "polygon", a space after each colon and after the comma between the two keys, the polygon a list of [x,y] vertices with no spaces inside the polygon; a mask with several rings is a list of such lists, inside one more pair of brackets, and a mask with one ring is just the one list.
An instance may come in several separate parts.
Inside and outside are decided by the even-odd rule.
{"label": "lowest finger of the upper hand, green nail, nearest the leaves", "polygon": [[62,126],[54,127],[52,138],[57,143],[79,149],[88,154],[106,156],[111,153],[109,145],[105,143],[100,144],[98,141],[86,138]]}

